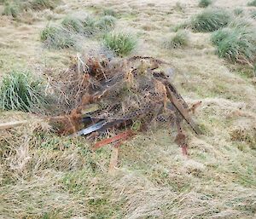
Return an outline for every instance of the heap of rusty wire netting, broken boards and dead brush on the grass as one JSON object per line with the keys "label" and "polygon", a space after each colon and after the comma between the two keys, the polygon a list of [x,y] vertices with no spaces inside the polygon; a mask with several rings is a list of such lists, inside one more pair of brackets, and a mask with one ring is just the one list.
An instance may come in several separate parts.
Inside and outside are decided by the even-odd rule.
{"label": "heap of rusty wire netting, broken boards and dead brush on the grass", "polygon": [[168,66],[152,57],[110,60],[78,56],[76,63],[52,83],[59,92],[59,105],[70,112],[52,119],[59,134],[97,140],[114,133],[97,141],[96,149],[108,143],[117,147],[137,131],[166,124],[177,127],[175,142],[187,153],[181,124],[184,120],[195,134],[201,133],[190,116],[200,102],[188,106],[172,84],[172,68]]}

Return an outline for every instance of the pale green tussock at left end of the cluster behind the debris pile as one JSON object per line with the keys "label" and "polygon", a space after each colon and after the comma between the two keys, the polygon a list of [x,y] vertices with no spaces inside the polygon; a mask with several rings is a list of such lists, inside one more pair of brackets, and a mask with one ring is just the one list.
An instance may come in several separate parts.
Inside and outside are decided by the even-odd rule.
{"label": "pale green tussock at left end of the cluster behind the debris pile", "polygon": [[77,43],[73,34],[60,26],[44,27],[40,34],[40,39],[46,47],[52,49],[72,48]]}

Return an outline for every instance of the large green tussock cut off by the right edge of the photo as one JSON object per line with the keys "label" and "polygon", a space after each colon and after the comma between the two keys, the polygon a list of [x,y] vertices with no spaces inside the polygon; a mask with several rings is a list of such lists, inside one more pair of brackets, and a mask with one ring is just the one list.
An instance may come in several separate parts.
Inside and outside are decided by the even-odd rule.
{"label": "large green tussock cut off by the right edge of the photo", "polygon": [[218,56],[229,61],[253,62],[256,55],[256,33],[252,27],[231,26],[212,33]]}

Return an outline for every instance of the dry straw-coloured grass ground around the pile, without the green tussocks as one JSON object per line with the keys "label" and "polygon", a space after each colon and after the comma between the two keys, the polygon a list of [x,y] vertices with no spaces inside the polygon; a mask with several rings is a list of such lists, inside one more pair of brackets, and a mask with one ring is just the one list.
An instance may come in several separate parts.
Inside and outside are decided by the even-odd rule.
{"label": "dry straw-coloured grass ground around the pile, without the green tussocks", "polygon": [[[44,77],[69,65],[73,49],[48,50],[39,33],[67,14],[121,14],[116,29],[139,36],[134,52],[172,61],[182,73],[174,79],[189,103],[202,101],[196,119],[204,135],[189,134],[189,158],[173,142],[173,130],[137,135],[120,150],[119,170],[108,174],[111,147],[96,153],[83,139],[38,139],[36,124],[2,131],[0,136],[0,218],[255,218],[256,87],[243,68],[218,58],[208,33],[189,32],[185,49],[167,50],[161,41],[170,28],[200,12],[195,0],[63,0],[17,22],[0,17],[0,77],[30,69]],[[247,1],[216,0],[228,9]],[[92,39],[80,52],[100,47]],[[1,121],[30,118],[0,112]],[[188,129],[189,130],[189,129]],[[188,131],[189,132],[189,131]],[[26,133],[26,135],[24,134]],[[254,142],[254,143],[253,143]]]}

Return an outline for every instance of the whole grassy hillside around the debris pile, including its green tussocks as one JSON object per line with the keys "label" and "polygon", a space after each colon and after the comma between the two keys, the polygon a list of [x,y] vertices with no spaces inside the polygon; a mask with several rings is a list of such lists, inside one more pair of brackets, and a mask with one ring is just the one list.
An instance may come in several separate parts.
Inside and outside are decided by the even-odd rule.
{"label": "whole grassy hillside around the debris pile, including its green tussocks", "polygon": [[109,174],[112,147],[93,152],[83,137],[53,134],[38,99],[30,112],[3,107],[9,80],[1,123],[32,122],[0,130],[0,218],[256,217],[256,8],[201,2],[0,0],[1,84],[29,72],[37,84],[25,94],[45,95],[78,54],[154,56],[176,66],[173,84],[190,105],[202,101],[203,131],[184,125],[188,157],[172,127],[136,135]]}

